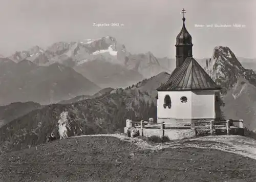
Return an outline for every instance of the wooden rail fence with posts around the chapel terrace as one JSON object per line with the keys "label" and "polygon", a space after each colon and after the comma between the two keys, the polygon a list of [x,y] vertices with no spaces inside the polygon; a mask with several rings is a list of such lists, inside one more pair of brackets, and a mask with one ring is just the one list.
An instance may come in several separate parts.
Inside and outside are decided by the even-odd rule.
{"label": "wooden rail fence with posts around the chapel terrace", "polygon": [[[238,123],[238,126],[234,126],[235,123]],[[177,126],[178,125],[178,126]],[[141,130],[146,129],[195,129],[197,131],[210,131],[210,134],[213,134],[216,129],[226,130],[226,133],[229,134],[232,128],[244,128],[243,120],[226,120],[226,121],[206,121],[206,122],[180,122],[180,123],[148,123],[145,121],[132,121],[126,120],[126,128],[130,127],[139,127]]]}

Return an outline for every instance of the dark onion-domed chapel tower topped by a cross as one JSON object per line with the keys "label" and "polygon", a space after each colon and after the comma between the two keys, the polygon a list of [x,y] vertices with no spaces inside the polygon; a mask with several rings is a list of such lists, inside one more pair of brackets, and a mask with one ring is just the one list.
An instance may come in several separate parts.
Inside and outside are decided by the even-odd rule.
{"label": "dark onion-domed chapel tower topped by a cross", "polygon": [[192,37],[188,33],[185,27],[185,17],[184,14],[186,13],[184,8],[182,10],[183,13],[183,26],[180,33],[176,37],[176,67],[180,67],[181,64],[185,61],[188,57],[193,57],[192,55]]}

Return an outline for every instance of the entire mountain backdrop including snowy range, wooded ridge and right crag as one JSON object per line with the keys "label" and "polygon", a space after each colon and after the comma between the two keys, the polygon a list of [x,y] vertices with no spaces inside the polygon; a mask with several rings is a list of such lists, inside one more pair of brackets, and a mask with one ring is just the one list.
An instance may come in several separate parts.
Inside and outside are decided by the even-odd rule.
{"label": "entire mountain backdrop including snowy range, wooded ridge and right crag", "polygon": [[[254,130],[256,74],[239,59],[219,46],[211,57],[197,61],[222,86],[226,119],[243,119]],[[110,36],[57,42],[47,50],[35,47],[1,58],[2,104],[38,104],[16,103],[24,107],[20,112],[15,104],[0,107],[0,119],[6,120],[0,147],[9,151],[45,143],[52,132],[57,138],[122,132],[126,119],[156,119],[156,88],[174,69],[174,59],[131,54]],[[7,118],[11,112],[16,116]]]}

